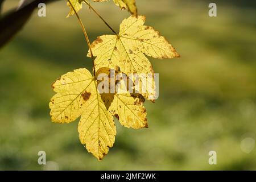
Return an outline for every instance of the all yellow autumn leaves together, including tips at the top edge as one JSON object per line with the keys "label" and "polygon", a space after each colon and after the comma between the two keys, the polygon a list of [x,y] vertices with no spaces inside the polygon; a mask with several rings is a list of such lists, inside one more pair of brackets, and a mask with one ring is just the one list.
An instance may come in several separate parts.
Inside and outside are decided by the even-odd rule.
{"label": "all yellow autumn leaves together, including tips at the top edge", "polygon": [[[179,57],[174,47],[158,31],[144,25],[146,18],[137,15],[135,0],[113,1],[132,15],[122,21],[119,34],[114,32],[113,35],[98,36],[92,44],[88,43],[87,56],[93,59],[93,75],[81,68],[61,76],[52,84],[56,94],[49,103],[53,122],[69,123],[81,116],[78,127],[80,141],[98,160],[102,160],[114,144],[116,128],[113,117],[128,128],[148,127],[143,104],[145,100],[154,102],[156,91],[154,79],[152,85],[148,86],[148,77],[141,76],[154,75],[147,56],[157,59]],[[88,1],[69,0],[71,11],[68,16],[77,15],[83,2],[89,5]],[[141,87],[137,93],[130,92],[127,86],[125,92],[115,90],[114,93],[101,93],[98,88],[104,80],[98,79],[98,76],[102,73],[108,78],[119,75],[120,80],[122,76],[127,76],[133,83],[132,88],[135,80]],[[136,78],[133,77],[135,74],[138,75]],[[107,84],[109,89],[112,86],[110,82]],[[117,82],[114,86],[117,86]]]}

